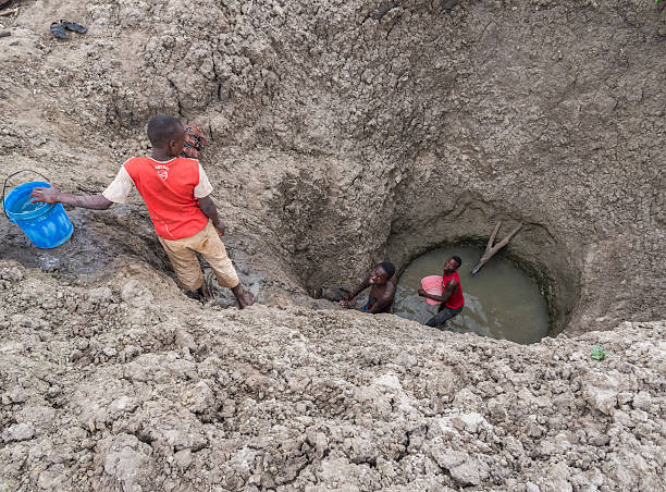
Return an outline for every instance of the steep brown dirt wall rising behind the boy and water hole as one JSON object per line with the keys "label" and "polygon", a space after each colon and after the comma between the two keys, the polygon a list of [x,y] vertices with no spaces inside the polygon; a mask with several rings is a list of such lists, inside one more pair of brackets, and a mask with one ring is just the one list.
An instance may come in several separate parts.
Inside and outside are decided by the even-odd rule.
{"label": "steep brown dirt wall rising behind the boy and water hole", "polygon": [[[76,5],[7,21],[3,170],[100,190],[171,112],[210,133],[215,198],[268,283],[355,282],[508,219],[572,329],[663,313],[662,5]],[[49,38],[72,15],[89,34]]]}

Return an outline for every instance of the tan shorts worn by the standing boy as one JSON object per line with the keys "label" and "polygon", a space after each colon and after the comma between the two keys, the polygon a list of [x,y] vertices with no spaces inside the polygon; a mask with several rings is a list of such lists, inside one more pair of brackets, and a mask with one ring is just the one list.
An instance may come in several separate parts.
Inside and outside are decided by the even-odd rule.
{"label": "tan shorts worn by the standing boy", "polygon": [[203,283],[203,273],[199,267],[196,253],[200,253],[210,263],[221,286],[233,288],[238,285],[236,270],[226,256],[226,248],[212,222],[209,221],[206,227],[194,236],[175,241],[164,239],[163,237],[159,237],[159,239],[171,260],[181,285],[186,291],[196,291]]}

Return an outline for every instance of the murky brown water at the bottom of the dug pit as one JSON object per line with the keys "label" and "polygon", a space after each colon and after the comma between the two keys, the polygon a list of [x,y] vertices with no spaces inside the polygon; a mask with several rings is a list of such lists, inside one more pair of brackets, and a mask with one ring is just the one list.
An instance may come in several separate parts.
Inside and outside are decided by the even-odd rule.
{"label": "murky brown water at the bottom of the dug pit", "polygon": [[462,259],[458,274],[465,307],[443,328],[521,344],[539,342],[548,333],[548,311],[536,282],[502,257],[494,257],[471,276],[470,270],[482,253],[474,247],[451,247],[418,257],[398,280],[393,313],[421,323],[434,316],[439,306],[425,304],[417,290],[423,276],[441,275],[444,262],[457,255]]}

